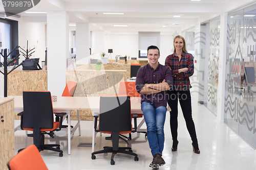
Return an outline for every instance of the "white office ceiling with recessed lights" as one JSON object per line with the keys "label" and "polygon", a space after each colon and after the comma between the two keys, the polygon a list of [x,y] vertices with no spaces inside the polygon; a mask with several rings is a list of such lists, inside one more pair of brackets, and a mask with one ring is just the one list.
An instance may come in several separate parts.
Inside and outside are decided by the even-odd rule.
{"label": "white office ceiling with recessed lights", "polygon": [[[202,22],[255,2],[255,0],[41,0],[28,11],[65,10],[69,13],[70,23],[89,22],[93,30],[164,32],[193,27],[198,21]],[[0,10],[3,11],[2,3],[0,4]],[[111,15],[103,12],[124,14]],[[20,15],[38,18],[47,16],[47,14],[25,12]],[[181,17],[176,18],[174,15]],[[128,27],[115,28],[114,24],[128,25]]]}

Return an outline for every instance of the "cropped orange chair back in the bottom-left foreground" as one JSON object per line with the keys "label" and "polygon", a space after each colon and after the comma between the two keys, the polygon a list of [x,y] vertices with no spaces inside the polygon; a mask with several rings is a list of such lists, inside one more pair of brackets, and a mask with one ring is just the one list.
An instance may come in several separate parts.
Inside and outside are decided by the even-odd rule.
{"label": "cropped orange chair back in the bottom-left foreground", "polygon": [[8,163],[9,170],[48,170],[34,144],[20,151]]}

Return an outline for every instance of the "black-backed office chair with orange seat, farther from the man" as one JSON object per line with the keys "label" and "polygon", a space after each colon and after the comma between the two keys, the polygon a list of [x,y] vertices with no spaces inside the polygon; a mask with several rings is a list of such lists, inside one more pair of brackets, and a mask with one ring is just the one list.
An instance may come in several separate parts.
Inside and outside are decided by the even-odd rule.
{"label": "black-backed office chair with orange seat, farther from the man", "polygon": [[[23,109],[23,112],[18,113],[21,116],[20,129],[33,131],[33,134],[28,136],[33,137],[39,152],[56,151],[62,157],[63,152],[59,144],[45,144],[45,134],[54,138],[54,131],[61,130],[62,118],[66,115],[66,113],[59,113],[60,121],[54,122],[50,91],[23,91]],[[19,149],[18,152],[22,150]]]}

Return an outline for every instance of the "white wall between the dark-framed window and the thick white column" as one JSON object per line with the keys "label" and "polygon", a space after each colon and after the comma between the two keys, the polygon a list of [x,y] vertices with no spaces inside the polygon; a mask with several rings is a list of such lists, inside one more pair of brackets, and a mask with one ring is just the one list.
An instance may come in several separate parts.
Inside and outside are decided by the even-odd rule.
{"label": "white wall between the dark-framed window and the thick white column", "polygon": [[[35,51],[30,58],[40,58],[41,61],[45,61],[45,22],[18,22],[18,45],[24,50],[27,50],[27,40],[28,40],[28,50]],[[21,50],[21,49],[20,49]],[[32,51],[31,51],[32,52]],[[22,62],[25,57],[20,53],[19,63]]]}

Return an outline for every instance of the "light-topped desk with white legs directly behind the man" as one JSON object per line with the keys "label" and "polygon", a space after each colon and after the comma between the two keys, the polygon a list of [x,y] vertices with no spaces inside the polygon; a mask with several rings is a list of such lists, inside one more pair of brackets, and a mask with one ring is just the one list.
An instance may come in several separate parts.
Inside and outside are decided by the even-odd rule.
{"label": "light-topped desk with white legs directly behind the man", "polygon": [[[88,97],[88,102],[84,103],[81,106],[81,110],[83,109],[91,109],[94,113],[99,113],[99,101],[100,97]],[[169,106],[167,106],[167,111],[170,111]],[[139,98],[131,97],[131,113],[138,113],[143,114],[141,110],[141,104],[139,103]],[[93,118],[93,125],[95,122],[95,117]],[[144,124],[144,118],[141,120],[140,124],[137,127],[137,132],[146,132],[146,129],[141,129],[141,126]],[[95,144],[95,137],[97,132],[94,131],[93,128],[93,139],[92,139],[92,152],[94,152],[94,144]]]}

